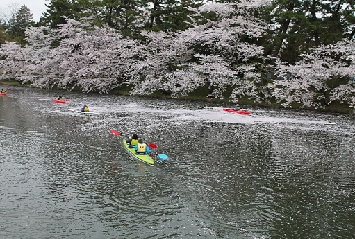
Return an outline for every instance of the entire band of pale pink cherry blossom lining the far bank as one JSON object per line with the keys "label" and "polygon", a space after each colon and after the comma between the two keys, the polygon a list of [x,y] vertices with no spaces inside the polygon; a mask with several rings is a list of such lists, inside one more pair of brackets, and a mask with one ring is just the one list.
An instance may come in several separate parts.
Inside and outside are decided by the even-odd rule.
{"label": "entire band of pale pink cherry blossom lining the far bank", "polygon": [[[206,87],[208,97],[233,101],[246,96],[258,102],[277,100],[285,107],[325,107],[333,101],[355,107],[355,82],[347,80],[355,76],[354,42],[315,48],[295,65],[276,60],[276,80],[262,80],[261,69],[270,67],[264,63],[268,59],[264,48],[251,42],[265,35],[267,25],[251,12],[269,2],[245,0],[190,9],[190,28],[143,32],[145,41],[73,19],[58,28],[33,27],[26,31],[26,46],[1,44],[1,78],[101,93],[130,85],[133,95],[164,91],[173,97]],[[203,12],[216,17],[211,21]],[[344,83],[331,88],[330,80]]]}

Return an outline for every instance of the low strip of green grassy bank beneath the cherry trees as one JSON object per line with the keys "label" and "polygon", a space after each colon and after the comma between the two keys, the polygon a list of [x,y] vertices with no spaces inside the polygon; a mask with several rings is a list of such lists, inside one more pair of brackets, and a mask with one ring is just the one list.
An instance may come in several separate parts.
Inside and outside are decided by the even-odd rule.
{"label": "low strip of green grassy bank beneath the cherry trees", "polygon": [[[15,80],[0,80],[1,85],[10,85],[10,86],[19,86],[19,87],[28,87],[30,84],[20,84],[19,82]],[[115,94],[115,95],[122,95],[122,96],[129,96],[129,92],[131,91],[131,87],[125,86],[125,87],[119,87],[116,89],[113,89],[108,92],[108,94]],[[80,89],[74,89],[75,91],[80,91]],[[181,97],[176,97],[174,99],[176,100],[195,100],[195,101],[205,101],[205,102],[214,102],[214,103],[232,103],[232,100],[230,98],[224,98],[224,99],[219,99],[219,98],[208,98],[206,97],[209,94],[208,89],[205,88],[200,88],[194,91],[192,94],[189,94],[188,96],[181,96]],[[142,96],[142,97],[149,97],[149,98],[172,98],[170,96],[169,92],[162,92],[162,91],[156,91],[151,95],[148,96]],[[272,107],[272,108],[284,108],[281,104],[279,103],[256,103],[254,100],[250,100],[248,98],[240,98],[238,100],[238,103],[241,105],[254,105],[254,106],[261,106],[261,107]],[[292,105],[292,109],[301,109],[299,105]],[[349,107],[349,105],[344,104],[344,103],[331,103],[324,109],[316,109],[315,107],[307,107],[303,108],[303,110],[310,110],[310,111],[315,111],[315,112],[329,112],[329,113],[340,113],[340,114],[354,114],[354,109]]]}

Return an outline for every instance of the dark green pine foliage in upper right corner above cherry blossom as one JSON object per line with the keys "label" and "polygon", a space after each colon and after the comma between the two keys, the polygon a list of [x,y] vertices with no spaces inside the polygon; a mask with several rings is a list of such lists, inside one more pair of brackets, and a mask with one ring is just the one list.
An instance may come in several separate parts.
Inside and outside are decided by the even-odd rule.
{"label": "dark green pine foliage in upper right corner above cherry blossom", "polygon": [[350,0],[275,0],[261,14],[270,24],[263,45],[268,55],[295,63],[315,46],[353,37],[354,12],[355,3]]}

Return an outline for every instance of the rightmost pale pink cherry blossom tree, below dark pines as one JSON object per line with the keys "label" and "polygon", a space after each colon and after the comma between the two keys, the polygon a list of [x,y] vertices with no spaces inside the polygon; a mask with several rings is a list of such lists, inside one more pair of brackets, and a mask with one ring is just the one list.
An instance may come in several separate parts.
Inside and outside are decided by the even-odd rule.
{"label": "rightmost pale pink cherry blossom tree, below dark pines", "polygon": [[[279,79],[269,86],[273,96],[285,107],[324,108],[333,101],[355,107],[355,84],[349,80],[355,76],[354,52],[355,42],[344,40],[315,48],[295,65],[279,62]],[[336,87],[329,86],[332,81]]]}

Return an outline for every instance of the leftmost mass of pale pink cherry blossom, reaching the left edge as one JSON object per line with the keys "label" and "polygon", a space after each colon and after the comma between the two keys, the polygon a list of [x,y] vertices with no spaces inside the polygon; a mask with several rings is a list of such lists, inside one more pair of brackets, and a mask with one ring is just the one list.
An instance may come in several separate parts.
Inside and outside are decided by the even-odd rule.
{"label": "leftmost mass of pale pink cherry blossom, reaching the left edge", "polygon": [[140,46],[110,28],[72,19],[56,29],[31,28],[27,35],[24,48],[1,47],[2,77],[33,82],[36,87],[107,92],[129,77],[130,58]]}

